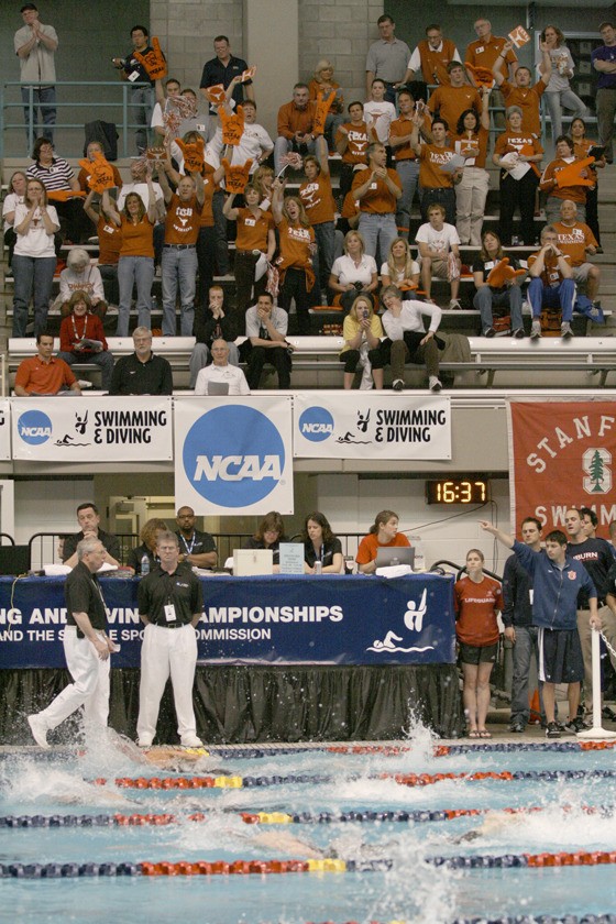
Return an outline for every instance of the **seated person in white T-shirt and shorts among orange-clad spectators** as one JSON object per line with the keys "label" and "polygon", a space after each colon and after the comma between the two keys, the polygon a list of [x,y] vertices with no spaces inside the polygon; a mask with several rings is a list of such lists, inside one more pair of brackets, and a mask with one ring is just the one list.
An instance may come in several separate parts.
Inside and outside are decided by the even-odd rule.
{"label": "seated person in white T-shirt and shorts among orange-clad spectators", "polygon": [[428,221],[421,224],[415,240],[419,245],[421,257],[421,285],[426,294],[426,301],[435,304],[431,298],[432,276],[447,279],[450,284],[451,298],[449,307],[460,308],[458,293],[460,292],[460,238],[454,224],[446,221],[444,207],[433,202],[428,208]]}

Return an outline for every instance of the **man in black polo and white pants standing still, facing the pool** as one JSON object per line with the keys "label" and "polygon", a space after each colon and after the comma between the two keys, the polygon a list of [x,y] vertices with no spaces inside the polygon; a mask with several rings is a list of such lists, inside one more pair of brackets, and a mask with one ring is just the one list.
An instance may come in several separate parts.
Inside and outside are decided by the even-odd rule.
{"label": "man in black polo and white pants standing still, facing the pool", "polygon": [[139,615],[145,629],[141,648],[139,688],[139,746],[148,748],[156,734],[158,708],[170,675],[177,730],[185,747],[197,748],[197,723],[193,708],[193,682],[197,664],[195,626],[201,618],[204,595],[199,579],[186,564],[179,564],[179,547],[174,532],[156,539],[160,563],[143,578],[138,590]]}

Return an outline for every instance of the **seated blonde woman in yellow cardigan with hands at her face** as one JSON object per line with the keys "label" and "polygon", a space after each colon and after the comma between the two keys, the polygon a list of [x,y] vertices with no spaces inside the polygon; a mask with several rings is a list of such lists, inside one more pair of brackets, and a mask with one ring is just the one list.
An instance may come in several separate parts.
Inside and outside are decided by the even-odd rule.
{"label": "seated blonde woman in yellow cardigan with hands at her face", "polygon": [[342,330],[344,346],[340,351],[340,362],[344,363],[344,388],[353,387],[353,380],[359,365],[363,367],[360,387],[383,388],[383,354],[381,340],[384,337],[378,315],[374,314],[372,299],[359,295],[351,310],[344,318]]}

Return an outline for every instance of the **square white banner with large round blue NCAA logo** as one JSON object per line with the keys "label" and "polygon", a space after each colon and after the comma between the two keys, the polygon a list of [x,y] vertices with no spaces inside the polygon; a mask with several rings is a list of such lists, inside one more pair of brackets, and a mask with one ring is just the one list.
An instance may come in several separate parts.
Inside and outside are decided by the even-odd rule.
{"label": "square white banner with large round blue NCAA logo", "polygon": [[293,514],[290,397],[179,398],[175,494],[196,514]]}

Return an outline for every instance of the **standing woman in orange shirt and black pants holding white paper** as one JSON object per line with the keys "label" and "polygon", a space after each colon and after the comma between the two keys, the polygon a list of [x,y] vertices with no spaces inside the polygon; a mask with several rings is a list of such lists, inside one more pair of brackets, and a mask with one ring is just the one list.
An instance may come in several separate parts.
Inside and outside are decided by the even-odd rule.
{"label": "standing woman in orange shirt and black pants holding white paper", "polygon": [[539,185],[538,165],[543,148],[532,132],[521,130],[521,109],[507,109],[507,130],[498,135],[492,162],[501,167],[501,240],[512,245],[514,212],[520,213],[520,237],[525,244],[535,242],[535,197]]}

